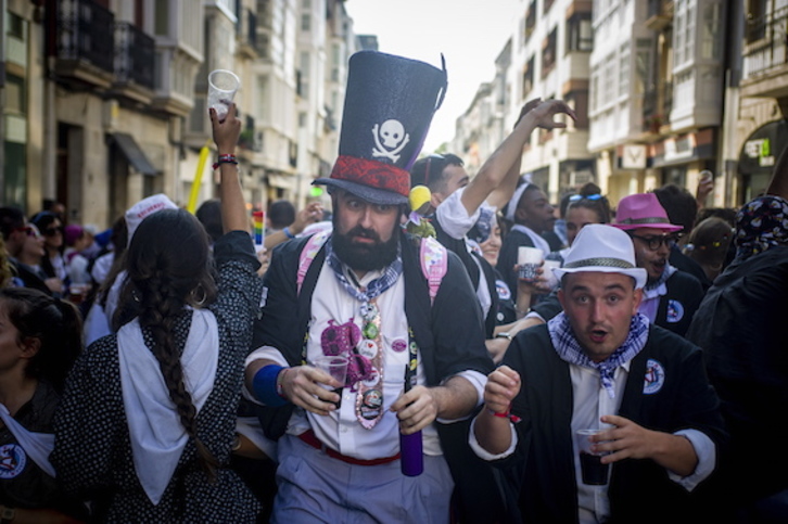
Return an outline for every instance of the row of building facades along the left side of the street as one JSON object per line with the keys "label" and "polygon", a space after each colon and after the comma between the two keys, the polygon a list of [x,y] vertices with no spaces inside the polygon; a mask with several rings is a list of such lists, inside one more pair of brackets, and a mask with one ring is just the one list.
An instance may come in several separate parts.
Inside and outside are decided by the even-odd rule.
{"label": "row of building facades along the left side of the street", "polygon": [[[310,197],[336,156],[347,57],[343,0],[3,0],[2,203],[45,200],[107,227],[164,192],[216,195],[207,75],[236,95],[247,202]],[[208,148],[207,162],[205,150]]]}

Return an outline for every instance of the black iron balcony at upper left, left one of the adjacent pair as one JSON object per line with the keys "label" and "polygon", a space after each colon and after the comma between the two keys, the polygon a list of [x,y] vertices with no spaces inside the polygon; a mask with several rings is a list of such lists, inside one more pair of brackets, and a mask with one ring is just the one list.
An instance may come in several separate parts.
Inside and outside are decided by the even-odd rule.
{"label": "black iron balcony at upper left, left one of the adjacent pair", "polygon": [[[50,1],[50,54],[62,80],[110,88],[114,78],[114,15],[91,0]],[[54,27],[51,27],[51,25]]]}

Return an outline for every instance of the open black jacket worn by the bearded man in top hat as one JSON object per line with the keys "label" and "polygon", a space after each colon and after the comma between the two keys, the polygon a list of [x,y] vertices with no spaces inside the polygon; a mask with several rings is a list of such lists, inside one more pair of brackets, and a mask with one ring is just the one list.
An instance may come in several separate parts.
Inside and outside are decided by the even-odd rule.
{"label": "open black jacket worn by the bearded man in top hat", "polygon": [[[297,293],[298,255],[306,242],[307,239],[285,242],[274,251],[265,276],[266,304],[262,319],[256,322],[252,344],[253,348],[262,345],[276,347],[291,366],[301,362],[304,335],[312,314],[312,295],[326,259],[321,248],[306,272],[301,293]],[[463,370],[487,375],[494,365],[484,346],[481,308],[462,263],[448,252],[448,270],[431,305],[418,244],[403,234],[401,245],[405,314],[419,346],[428,385],[435,386]],[[284,433],[291,413],[292,405],[257,408],[266,435],[275,439]],[[498,473],[468,446],[470,420],[436,424],[456,485],[455,507],[467,522],[503,522],[507,504],[499,491]]]}

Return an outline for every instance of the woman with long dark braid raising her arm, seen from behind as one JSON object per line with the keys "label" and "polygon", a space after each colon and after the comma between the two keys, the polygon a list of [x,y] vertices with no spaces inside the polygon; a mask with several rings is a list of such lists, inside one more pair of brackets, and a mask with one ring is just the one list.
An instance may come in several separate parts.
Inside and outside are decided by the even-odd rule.
{"label": "woman with long dark braid raising her arm, seen from behind", "polygon": [[52,461],[102,522],[254,522],[258,504],[227,468],[243,359],[262,287],[232,152],[219,122],[226,234],[214,246],[182,209],[142,220],[126,252],[117,334],[90,345],[58,413]]}

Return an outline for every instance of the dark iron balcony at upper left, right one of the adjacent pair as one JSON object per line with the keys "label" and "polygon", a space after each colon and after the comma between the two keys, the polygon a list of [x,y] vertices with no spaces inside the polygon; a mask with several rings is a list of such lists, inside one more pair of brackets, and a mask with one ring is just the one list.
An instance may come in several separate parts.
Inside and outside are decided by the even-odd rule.
{"label": "dark iron balcony at upper left, right one of the adjacent pair", "polygon": [[155,41],[128,22],[115,24],[115,84],[113,90],[150,103],[153,95]]}

